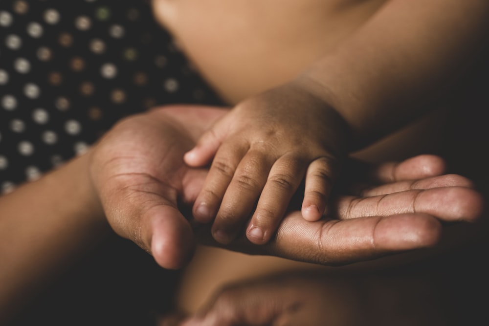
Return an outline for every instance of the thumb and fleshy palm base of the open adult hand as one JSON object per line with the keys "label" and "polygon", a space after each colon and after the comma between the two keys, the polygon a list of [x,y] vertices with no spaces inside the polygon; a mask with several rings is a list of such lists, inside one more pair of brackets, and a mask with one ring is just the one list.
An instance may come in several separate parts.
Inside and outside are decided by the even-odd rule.
{"label": "thumb and fleshy palm base of the open adult hand", "polygon": [[119,122],[97,144],[90,175],[113,230],[153,255],[165,268],[180,268],[195,239],[181,213],[202,187],[205,169],[189,169],[183,154],[225,110],[167,107]]}

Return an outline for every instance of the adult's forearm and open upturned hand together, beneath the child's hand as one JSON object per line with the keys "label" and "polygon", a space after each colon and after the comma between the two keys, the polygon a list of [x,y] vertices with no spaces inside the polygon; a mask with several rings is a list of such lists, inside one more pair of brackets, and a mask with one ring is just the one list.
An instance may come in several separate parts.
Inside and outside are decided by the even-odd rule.
{"label": "adult's forearm and open upturned hand together, beneath the child's hand", "polygon": [[[7,285],[0,291],[2,322],[70,261],[103,239],[109,227],[166,268],[185,265],[194,243],[218,245],[209,225],[200,225],[185,213],[200,193],[207,171],[188,167],[183,154],[225,112],[179,106],[128,117],[86,154],[0,197],[0,279]],[[344,265],[432,247],[440,240],[442,223],[472,222],[483,209],[483,199],[470,181],[441,175],[444,171],[443,160],[431,155],[387,163],[374,170],[375,180],[385,185],[338,195],[338,209],[328,218],[308,222],[300,212],[291,211],[268,244],[257,247],[241,238],[227,248]],[[424,181],[397,182],[404,179]],[[379,195],[391,190],[396,192]],[[440,196],[453,200],[449,206],[432,200]],[[32,216],[38,218],[33,221]]]}

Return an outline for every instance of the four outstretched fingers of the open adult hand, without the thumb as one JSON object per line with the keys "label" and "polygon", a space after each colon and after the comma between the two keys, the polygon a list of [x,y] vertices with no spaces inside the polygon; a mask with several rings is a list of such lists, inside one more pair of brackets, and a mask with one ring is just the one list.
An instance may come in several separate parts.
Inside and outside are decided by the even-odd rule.
{"label": "four outstretched fingers of the open adult hand, without the thumb", "polygon": [[362,183],[350,184],[353,187],[346,189],[347,195],[336,194],[321,220],[308,222],[300,211],[292,209],[267,245],[253,246],[242,237],[226,248],[346,265],[436,246],[446,231],[445,224],[474,222],[482,216],[484,199],[472,181],[444,174],[445,162],[438,156],[420,155],[370,169],[358,162],[353,166],[360,170],[349,173],[345,169],[349,180],[339,182],[344,186],[353,178]]}

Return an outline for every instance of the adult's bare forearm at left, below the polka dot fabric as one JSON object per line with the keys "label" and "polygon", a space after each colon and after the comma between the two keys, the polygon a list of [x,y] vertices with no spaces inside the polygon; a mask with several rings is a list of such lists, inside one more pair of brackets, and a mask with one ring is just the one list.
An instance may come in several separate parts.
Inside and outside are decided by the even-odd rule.
{"label": "adult's bare forearm at left, below the polka dot fabric", "polygon": [[0,197],[0,321],[107,229],[88,158]]}

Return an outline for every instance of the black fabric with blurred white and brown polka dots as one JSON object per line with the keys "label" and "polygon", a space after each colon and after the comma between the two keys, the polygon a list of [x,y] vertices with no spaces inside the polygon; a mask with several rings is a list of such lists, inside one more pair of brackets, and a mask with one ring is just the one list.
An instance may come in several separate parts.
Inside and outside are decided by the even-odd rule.
{"label": "black fabric with blurred white and brown polka dots", "polygon": [[149,1],[0,1],[0,192],[87,150],[122,117],[221,104]]}

